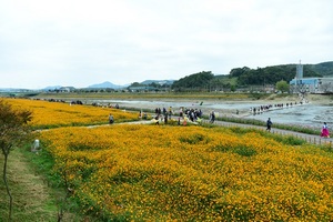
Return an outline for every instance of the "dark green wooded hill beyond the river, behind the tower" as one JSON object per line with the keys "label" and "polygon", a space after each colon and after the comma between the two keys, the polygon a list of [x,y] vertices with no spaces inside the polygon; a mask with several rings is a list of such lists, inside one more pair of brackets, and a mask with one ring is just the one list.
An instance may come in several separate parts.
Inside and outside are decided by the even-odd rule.
{"label": "dark green wooded hill beyond the river, behind the tower", "polygon": [[[303,77],[322,78],[324,73],[333,73],[333,62],[325,65],[303,65]],[[330,71],[331,70],[331,71]],[[174,81],[171,88],[174,91],[191,90],[235,90],[236,88],[249,88],[252,85],[276,85],[279,82],[289,83],[295,78],[296,65],[283,64],[266,68],[250,69],[248,67],[234,68],[226,75],[214,75],[211,71],[202,71],[178,81]],[[285,85],[284,85],[285,87]]]}

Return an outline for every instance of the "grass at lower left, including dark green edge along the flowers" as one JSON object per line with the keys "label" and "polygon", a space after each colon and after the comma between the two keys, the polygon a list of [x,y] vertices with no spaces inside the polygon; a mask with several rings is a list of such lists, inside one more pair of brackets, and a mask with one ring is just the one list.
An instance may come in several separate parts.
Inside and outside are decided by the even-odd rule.
{"label": "grass at lower left, including dark green edge along the flowers", "polygon": [[[0,155],[1,170],[3,155]],[[53,160],[44,151],[30,152],[16,149],[9,154],[8,182],[13,198],[11,221],[58,221],[62,209],[62,221],[83,221],[78,205],[67,199],[59,176],[52,175]],[[2,172],[2,171],[1,171]],[[1,173],[2,175],[2,173]],[[7,222],[9,196],[0,180],[0,222]]]}

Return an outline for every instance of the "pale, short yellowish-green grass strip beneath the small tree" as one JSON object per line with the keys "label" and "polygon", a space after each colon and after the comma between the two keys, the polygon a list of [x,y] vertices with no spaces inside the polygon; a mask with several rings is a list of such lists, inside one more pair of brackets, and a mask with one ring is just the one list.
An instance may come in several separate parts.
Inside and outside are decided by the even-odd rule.
{"label": "pale, short yellowish-green grass strip beneath the small tree", "polygon": [[[1,175],[3,155],[0,155]],[[9,155],[8,181],[13,196],[12,221],[57,221],[61,196],[33,169],[24,151],[13,150]],[[58,192],[58,194],[56,194]],[[8,221],[9,198],[3,180],[0,180],[0,221]],[[57,196],[57,198],[56,198]],[[64,221],[74,221],[71,213],[64,213]],[[81,220],[80,220],[81,221]]]}

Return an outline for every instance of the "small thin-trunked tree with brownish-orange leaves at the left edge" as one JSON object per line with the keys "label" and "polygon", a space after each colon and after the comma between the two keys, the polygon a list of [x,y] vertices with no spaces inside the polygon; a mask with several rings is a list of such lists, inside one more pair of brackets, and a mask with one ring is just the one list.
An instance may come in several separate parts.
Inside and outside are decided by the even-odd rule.
{"label": "small thin-trunked tree with brownish-orange leaves at the left edge", "polygon": [[4,157],[2,178],[9,196],[9,221],[11,221],[12,196],[7,182],[8,157],[12,149],[22,144],[30,137],[28,122],[31,118],[30,111],[16,110],[9,103],[0,100],[0,147]]}

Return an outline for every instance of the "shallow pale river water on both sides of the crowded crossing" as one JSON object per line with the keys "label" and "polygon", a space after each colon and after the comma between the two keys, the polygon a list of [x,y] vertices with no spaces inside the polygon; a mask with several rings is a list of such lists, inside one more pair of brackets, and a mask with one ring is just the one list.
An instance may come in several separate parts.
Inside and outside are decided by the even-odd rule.
{"label": "shallow pale river water on both sides of the crowded crossing", "polygon": [[[103,104],[119,104],[121,109],[125,108],[142,108],[142,109],[155,109],[172,107],[172,110],[178,113],[180,108],[200,109],[203,114],[209,114],[212,110],[219,115],[228,113],[228,115],[243,117],[246,119],[266,121],[271,118],[272,122],[284,124],[296,124],[312,128],[321,128],[323,122],[327,122],[329,127],[333,125],[333,107],[332,105],[319,105],[312,103],[303,103],[291,105],[283,109],[269,109],[269,111],[261,114],[250,114],[250,108],[258,108],[266,105],[268,103],[253,102],[228,102],[228,101],[162,101],[162,100],[94,100]],[[236,110],[240,111],[240,115],[236,114]]]}

